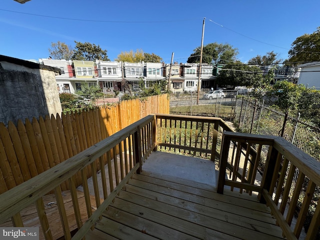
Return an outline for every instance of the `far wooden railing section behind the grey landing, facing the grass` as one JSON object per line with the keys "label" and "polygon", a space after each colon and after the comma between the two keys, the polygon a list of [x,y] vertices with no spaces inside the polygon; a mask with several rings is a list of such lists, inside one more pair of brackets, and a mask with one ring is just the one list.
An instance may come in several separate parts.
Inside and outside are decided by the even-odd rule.
{"label": "far wooden railing section behind the grey landing, facing the grass", "polygon": [[233,130],[218,117],[156,114],[158,150],[220,158],[222,131]]}

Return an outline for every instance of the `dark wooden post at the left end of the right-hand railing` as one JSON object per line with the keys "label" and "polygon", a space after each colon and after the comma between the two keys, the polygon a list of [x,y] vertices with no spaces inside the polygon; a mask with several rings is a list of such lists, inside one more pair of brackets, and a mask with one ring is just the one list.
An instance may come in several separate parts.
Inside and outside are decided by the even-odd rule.
{"label": "dark wooden post at the left end of the right-hand railing", "polygon": [[222,147],[221,147],[221,156],[219,162],[219,176],[218,182],[216,187],[216,192],[223,194],[224,182],[225,182],[225,170],[226,170],[226,163],[228,160],[228,153],[230,148],[231,137],[222,136]]}

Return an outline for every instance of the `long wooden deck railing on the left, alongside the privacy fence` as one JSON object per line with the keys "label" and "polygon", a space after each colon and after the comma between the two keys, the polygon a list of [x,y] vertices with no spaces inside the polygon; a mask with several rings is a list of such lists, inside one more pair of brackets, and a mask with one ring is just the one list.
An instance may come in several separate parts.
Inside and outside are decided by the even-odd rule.
{"label": "long wooden deck railing on the left, alongside the privacy fence", "polygon": [[[50,222],[42,197],[54,192],[65,239],[71,238],[70,221],[78,229],[72,239],[81,239],[101,217],[102,212],[134,172],[141,170],[142,160],[155,147],[155,116],[148,115],[113,135],[90,146],[56,166],[32,177],[0,195],[0,223],[11,218],[13,226],[23,226],[20,211],[35,203],[40,219],[42,237],[53,239]],[[107,165],[107,173],[104,165]],[[97,167],[101,179],[98,182]],[[92,172],[95,202],[90,201],[87,172]],[[82,182],[86,217],[80,215],[75,181]],[[107,182],[108,181],[108,182]],[[63,202],[61,184],[68,184],[72,197],[74,214],[67,216]],[[102,195],[99,194],[102,186]],[[95,209],[92,211],[92,208]],[[87,219],[87,220],[86,220]],[[86,220],[84,222],[84,220]]]}

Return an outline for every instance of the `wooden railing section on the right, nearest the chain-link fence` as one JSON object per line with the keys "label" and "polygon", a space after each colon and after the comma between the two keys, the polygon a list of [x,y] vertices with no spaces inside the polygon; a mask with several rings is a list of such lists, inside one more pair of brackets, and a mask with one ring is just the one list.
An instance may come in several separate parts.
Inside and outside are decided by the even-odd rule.
{"label": "wooden railing section on the right, nearest the chain-link fence", "polygon": [[[257,171],[263,172],[260,179]],[[287,239],[299,238],[311,211],[305,239],[315,238],[320,225],[320,162],[282,137],[224,132],[217,192],[223,193],[225,185],[243,194],[257,193]],[[290,227],[294,214],[297,221]]]}

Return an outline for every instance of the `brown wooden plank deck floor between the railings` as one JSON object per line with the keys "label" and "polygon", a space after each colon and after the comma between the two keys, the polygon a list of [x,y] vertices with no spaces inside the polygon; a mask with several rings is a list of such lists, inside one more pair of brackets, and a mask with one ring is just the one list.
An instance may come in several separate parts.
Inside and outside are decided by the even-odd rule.
{"label": "brown wooden plank deck floor between the railings", "polygon": [[256,196],[182,178],[134,174],[85,239],[283,239]]}

